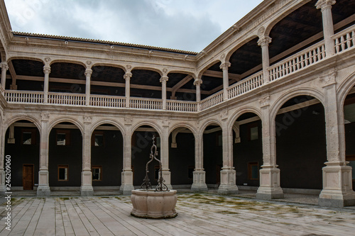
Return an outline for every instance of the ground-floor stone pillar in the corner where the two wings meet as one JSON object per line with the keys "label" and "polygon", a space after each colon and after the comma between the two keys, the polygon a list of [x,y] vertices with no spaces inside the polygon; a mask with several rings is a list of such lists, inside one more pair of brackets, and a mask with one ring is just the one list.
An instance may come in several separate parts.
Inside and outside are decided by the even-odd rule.
{"label": "ground-floor stone pillar in the corner where the two wings meet", "polygon": [[191,191],[207,191],[206,173],[203,169],[203,133],[195,137],[195,171]]}

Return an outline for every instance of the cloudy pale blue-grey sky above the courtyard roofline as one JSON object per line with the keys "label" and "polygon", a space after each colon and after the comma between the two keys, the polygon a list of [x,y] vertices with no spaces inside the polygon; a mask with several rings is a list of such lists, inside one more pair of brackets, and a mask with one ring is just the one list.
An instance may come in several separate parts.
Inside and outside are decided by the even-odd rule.
{"label": "cloudy pale blue-grey sky above the courtyard roofline", "polygon": [[200,52],[262,0],[5,0],[13,31]]}

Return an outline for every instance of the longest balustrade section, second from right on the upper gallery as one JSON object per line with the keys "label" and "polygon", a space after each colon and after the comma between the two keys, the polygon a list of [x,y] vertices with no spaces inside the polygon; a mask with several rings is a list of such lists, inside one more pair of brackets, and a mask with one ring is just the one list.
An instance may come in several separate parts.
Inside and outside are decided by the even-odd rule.
{"label": "longest balustrade section, second from right on the upper gallery", "polygon": [[317,43],[269,67],[270,81],[280,79],[325,58],[324,42]]}

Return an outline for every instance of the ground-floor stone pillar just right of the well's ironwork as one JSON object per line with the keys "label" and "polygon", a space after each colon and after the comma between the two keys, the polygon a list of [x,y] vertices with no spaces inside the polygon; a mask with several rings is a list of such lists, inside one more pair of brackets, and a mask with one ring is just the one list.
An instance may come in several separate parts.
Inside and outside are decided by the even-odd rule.
{"label": "ground-floor stone pillar just right of the well's ironwork", "polygon": [[171,186],[170,169],[169,169],[169,122],[163,120],[163,137],[160,138],[160,161],[162,164],[163,178],[168,189],[173,189]]}

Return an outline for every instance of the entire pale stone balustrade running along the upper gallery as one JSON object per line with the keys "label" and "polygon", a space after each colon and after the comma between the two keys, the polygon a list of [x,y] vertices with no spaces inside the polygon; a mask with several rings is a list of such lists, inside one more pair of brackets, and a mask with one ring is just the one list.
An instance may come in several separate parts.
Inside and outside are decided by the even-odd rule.
{"label": "entire pale stone balustrade running along the upper gallery", "polygon": [[[355,26],[351,26],[341,32],[333,35],[335,52],[344,52],[355,47]],[[271,65],[268,68],[270,82],[283,78],[289,74],[309,67],[325,58],[324,42],[317,43],[308,47],[301,52],[297,52],[281,62]],[[257,72],[241,82],[237,82],[229,86],[227,89],[228,99],[233,99],[241,94],[246,94],[253,89],[263,86],[263,72]],[[14,91],[1,90],[4,98],[9,103],[43,103],[45,101],[43,91]],[[84,106],[85,94],[65,94],[65,93],[48,93],[48,103],[58,105]],[[167,111],[182,111],[182,112],[198,112],[204,111],[212,106],[216,106],[223,102],[223,91],[217,92],[209,96],[207,99],[200,101],[173,101],[166,102]],[[102,96],[91,95],[89,106],[96,107],[111,107],[111,108],[126,108],[126,98],[119,96]],[[130,108],[146,109],[146,110],[162,110],[162,99],[142,99],[130,98]]]}

